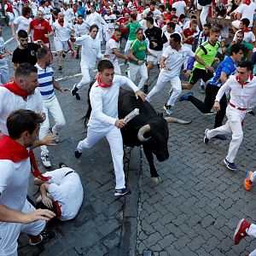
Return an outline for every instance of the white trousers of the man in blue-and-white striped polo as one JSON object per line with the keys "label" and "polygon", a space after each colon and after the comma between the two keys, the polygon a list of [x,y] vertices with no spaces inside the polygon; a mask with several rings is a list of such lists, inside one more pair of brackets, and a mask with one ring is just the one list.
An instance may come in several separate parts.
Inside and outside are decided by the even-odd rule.
{"label": "white trousers of the man in blue-and-white striped polo", "polygon": [[[55,120],[55,125],[52,127],[54,133],[59,133],[61,129],[66,125],[60,103],[56,96],[52,96],[50,99],[43,99],[43,112],[45,113],[44,123],[40,126],[39,139],[44,138],[49,134],[49,113]],[[41,155],[49,154],[49,150],[46,146],[41,146]]]}

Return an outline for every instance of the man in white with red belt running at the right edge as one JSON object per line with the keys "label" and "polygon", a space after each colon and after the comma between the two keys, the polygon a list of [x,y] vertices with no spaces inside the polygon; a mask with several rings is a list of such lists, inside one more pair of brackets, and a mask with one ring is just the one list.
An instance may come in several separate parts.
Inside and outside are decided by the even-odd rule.
{"label": "man in white with red belt running at the right edge", "polygon": [[230,76],[230,79],[220,87],[213,105],[213,108],[218,112],[220,99],[224,96],[224,93],[230,93],[230,104],[226,109],[228,121],[225,125],[215,129],[207,129],[204,137],[204,142],[207,144],[212,137],[218,134],[232,134],[229,152],[224,159],[224,164],[232,171],[237,170],[234,160],[243,137],[242,122],[250,102],[256,96],[256,77],[253,77],[252,74],[252,63],[243,61],[237,66],[237,76]]}

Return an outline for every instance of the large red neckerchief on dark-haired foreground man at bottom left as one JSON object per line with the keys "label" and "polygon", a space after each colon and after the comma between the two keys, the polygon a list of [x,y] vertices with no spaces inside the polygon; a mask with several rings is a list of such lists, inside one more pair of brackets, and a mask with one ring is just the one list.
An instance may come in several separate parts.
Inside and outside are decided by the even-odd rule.
{"label": "large red neckerchief on dark-haired foreground man at bottom left", "polygon": [[38,177],[44,182],[49,181],[50,177],[44,177],[38,170],[35,155],[33,151],[28,152],[25,147],[7,135],[0,139],[0,160],[11,160],[14,163],[30,158],[31,172],[34,177]]}

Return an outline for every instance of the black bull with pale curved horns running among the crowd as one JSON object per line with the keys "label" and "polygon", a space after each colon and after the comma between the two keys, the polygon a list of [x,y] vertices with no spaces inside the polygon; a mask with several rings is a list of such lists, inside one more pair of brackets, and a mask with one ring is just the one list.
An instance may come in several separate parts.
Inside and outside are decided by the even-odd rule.
{"label": "black bull with pale curved horns running among the crowd", "polygon": [[[93,83],[91,83],[93,84]],[[90,118],[90,90],[88,91],[88,111],[85,115],[84,124]],[[121,129],[123,143],[128,147],[143,145],[144,154],[148,160],[151,178],[155,183],[160,181],[160,177],[154,167],[154,156],[160,162],[169,158],[168,137],[169,129],[167,123],[179,123],[187,125],[191,121],[183,121],[171,117],[163,118],[161,114],[156,113],[154,108],[148,102],[137,100],[135,94],[129,90],[120,89],[119,91],[119,119],[125,118],[128,113],[139,108],[139,115],[131,119]]]}

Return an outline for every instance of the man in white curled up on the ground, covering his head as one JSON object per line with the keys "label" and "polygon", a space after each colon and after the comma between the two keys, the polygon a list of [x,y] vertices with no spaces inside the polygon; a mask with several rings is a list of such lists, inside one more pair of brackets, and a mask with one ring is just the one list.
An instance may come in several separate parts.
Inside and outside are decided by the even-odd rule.
{"label": "man in white curled up on the ground, covering his head", "polygon": [[50,177],[44,183],[36,177],[34,183],[40,186],[41,195],[36,201],[36,208],[49,209],[55,212],[55,217],[67,221],[76,217],[84,198],[84,190],[79,174],[60,163],[61,169],[45,172],[44,177]]}

